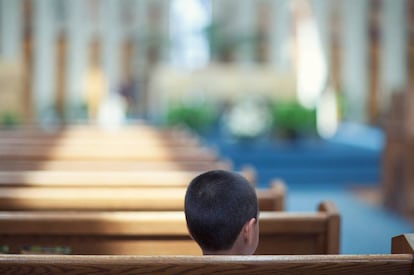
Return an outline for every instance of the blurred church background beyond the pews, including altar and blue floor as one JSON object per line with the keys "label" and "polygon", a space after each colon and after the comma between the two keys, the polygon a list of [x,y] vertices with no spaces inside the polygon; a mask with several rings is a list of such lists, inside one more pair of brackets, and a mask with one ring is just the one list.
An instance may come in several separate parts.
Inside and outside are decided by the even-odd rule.
{"label": "blurred church background beyond the pews, including altar and blue floor", "polygon": [[343,253],[414,229],[413,85],[410,0],[0,0],[2,128],[182,123],[288,209],[336,200]]}

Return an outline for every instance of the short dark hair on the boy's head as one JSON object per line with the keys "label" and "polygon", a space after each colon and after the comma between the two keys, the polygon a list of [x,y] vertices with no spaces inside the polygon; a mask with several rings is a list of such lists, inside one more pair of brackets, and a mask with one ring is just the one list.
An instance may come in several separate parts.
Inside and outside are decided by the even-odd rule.
{"label": "short dark hair on the boy's head", "polygon": [[188,230],[201,249],[227,250],[243,225],[257,219],[256,192],[238,173],[208,171],[190,182],[184,211]]}

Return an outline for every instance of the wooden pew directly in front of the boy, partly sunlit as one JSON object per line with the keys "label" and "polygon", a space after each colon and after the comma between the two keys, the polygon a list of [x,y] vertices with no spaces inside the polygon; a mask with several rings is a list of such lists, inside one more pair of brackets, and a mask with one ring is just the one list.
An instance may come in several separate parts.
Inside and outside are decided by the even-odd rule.
{"label": "wooden pew directly in front of the boy, partly sunlit", "polygon": [[[317,212],[260,213],[257,254],[337,254],[339,213],[332,202]],[[183,211],[0,211],[0,246],[71,254],[199,255]]]}

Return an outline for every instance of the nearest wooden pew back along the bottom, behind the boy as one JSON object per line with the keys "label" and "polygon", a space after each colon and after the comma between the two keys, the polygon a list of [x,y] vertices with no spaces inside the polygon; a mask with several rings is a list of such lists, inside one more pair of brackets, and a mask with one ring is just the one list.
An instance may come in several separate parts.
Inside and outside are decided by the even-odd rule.
{"label": "nearest wooden pew back along the bottom, behind the boy", "polygon": [[0,255],[1,274],[414,274],[414,236],[392,254],[283,256]]}

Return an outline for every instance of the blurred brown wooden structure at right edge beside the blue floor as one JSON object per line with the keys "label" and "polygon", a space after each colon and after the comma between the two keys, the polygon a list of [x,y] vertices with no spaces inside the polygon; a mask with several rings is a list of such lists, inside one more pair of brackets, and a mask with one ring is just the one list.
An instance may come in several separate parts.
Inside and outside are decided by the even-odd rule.
{"label": "blurred brown wooden structure at right edge beside the blue floor", "polygon": [[414,213],[414,91],[395,93],[385,120],[382,156],[384,205]]}

